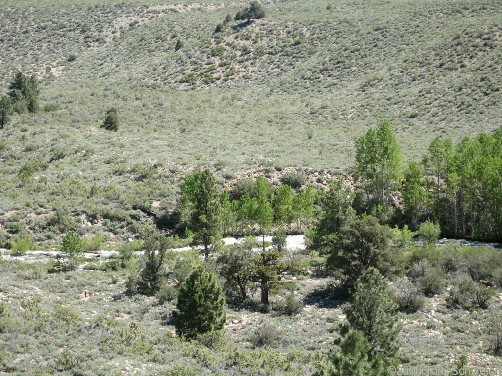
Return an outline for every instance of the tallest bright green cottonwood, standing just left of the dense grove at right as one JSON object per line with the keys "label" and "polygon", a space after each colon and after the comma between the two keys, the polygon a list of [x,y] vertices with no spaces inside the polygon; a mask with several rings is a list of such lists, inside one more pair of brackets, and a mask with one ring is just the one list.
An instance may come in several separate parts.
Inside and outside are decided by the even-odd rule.
{"label": "tallest bright green cottonwood, standing just left of the dense grove at right", "polygon": [[387,207],[389,195],[403,174],[403,156],[388,120],[382,120],[376,130],[369,129],[357,140],[355,170],[368,208],[370,198]]}

